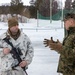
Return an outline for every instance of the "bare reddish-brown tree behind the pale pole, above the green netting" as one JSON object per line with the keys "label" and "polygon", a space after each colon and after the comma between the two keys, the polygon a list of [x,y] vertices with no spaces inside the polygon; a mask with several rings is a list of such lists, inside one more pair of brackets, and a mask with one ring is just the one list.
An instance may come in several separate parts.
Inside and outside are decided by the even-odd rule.
{"label": "bare reddish-brown tree behind the pale pole, above the green netting", "polygon": [[[57,13],[58,11],[58,3],[55,0],[52,0],[52,15]],[[39,5],[39,12],[45,17],[50,16],[50,0],[43,0]]]}

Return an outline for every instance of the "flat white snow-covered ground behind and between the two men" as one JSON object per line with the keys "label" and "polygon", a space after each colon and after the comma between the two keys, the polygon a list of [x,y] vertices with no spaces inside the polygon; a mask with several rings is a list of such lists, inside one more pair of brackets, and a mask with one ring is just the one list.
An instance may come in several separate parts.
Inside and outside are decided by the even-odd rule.
{"label": "flat white snow-covered ground behind and between the two men", "polygon": [[[34,47],[34,58],[27,70],[29,75],[59,75],[57,66],[59,54],[51,51],[43,44],[44,38],[61,42],[64,38],[64,28],[61,21],[35,20],[31,19],[28,23],[19,23],[20,28],[26,33],[32,41]],[[0,34],[7,30],[7,23],[0,23]]]}

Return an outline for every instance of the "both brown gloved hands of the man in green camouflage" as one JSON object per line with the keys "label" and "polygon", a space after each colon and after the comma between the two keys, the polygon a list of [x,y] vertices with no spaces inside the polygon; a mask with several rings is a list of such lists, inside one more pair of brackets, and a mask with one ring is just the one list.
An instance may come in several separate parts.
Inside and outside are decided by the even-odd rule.
{"label": "both brown gloved hands of the man in green camouflage", "polygon": [[49,46],[49,48],[51,50],[55,50],[57,52],[60,52],[62,50],[62,44],[60,43],[60,41],[57,39],[57,41],[53,40],[53,37],[51,37],[51,39],[44,39],[44,45],[45,47]]}

